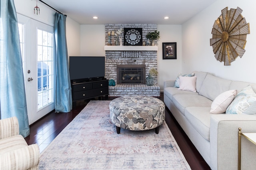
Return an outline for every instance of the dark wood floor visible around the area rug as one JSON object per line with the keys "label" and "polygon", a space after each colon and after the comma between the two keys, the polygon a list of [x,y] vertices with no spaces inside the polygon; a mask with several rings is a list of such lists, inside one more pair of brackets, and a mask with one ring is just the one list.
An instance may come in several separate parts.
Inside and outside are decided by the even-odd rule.
{"label": "dark wood floor visible around the area rug", "polygon": [[[105,97],[100,98],[105,100]],[[109,97],[108,100],[113,100]],[[160,99],[163,101],[163,93]],[[25,138],[28,144],[37,143],[42,152],[52,140],[70,123],[78,113],[86,106],[88,101],[77,102],[76,107],[70,113],[50,113],[30,126],[30,135]],[[208,164],[196,150],[188,136],[172,116],[166,107],[166,123],[170,128],[176,142],[184,154],[192,170],[210,170]],[[65,115],[65,116],[63,116]]]}

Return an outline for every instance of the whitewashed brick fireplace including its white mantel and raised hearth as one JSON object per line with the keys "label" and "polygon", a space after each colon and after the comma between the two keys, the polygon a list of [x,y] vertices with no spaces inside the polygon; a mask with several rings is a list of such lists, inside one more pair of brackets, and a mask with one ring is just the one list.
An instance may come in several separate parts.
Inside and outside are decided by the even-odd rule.
{"label": "whitewashed brick fireplace including its white mantel and raised hearth", "polygon": [[[108,32],[115,31],[120,28],[142,28],[142,39],[146,41],[148,31],[154,31],[157,28],[156,24],[106,24],[106,78],[114,79],[116,86],[109,86],[109,96],[124,96],[124,95],[146,95],[160,96],[160,87],[157,85],[157,76],[154,77],[154,85],[146,85],[146,77],[151,68],[157,69],[157,47],[140,46],[111,46],[108,48]],[[123,36],[123,35],[122,35]],[[142,67],[141,67],[142,66]],[[119,68],[126,68],[124,72],[130,71],[130,75],[126,78],[124,74],[120,75]],[[143,70],[143,73],[135,75],[134,70],[138,68]],[[130,69],[130,70],[129,70]],[[139,71],[140,72],[140,71]],[[136,76],[136,78],[134,77]],[[127,81],[130,77],[132,81]],[[120,79],[126,79],[126,82],[120,83]],[[136,82],[134,82],[136,79]],[[142,81],[141,81],[142,80]]]}

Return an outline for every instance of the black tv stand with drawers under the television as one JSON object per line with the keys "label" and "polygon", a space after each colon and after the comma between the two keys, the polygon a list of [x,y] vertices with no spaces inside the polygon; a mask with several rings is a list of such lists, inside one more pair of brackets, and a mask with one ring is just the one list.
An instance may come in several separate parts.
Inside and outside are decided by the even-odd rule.
{"label": "black tv stand with drawers under the television", "polygon": [[108,79],[71,81],[73,107],[76,101],[105,96],[108,99]]}

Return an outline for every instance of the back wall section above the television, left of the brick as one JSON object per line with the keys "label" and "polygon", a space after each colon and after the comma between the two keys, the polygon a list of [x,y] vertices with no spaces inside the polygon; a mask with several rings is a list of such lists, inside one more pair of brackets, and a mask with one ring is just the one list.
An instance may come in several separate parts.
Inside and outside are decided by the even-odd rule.
{"label": "back wall section above the television, left of the brick", "polygon": [[105,25],[81,25],[82,56],[105,56]]}

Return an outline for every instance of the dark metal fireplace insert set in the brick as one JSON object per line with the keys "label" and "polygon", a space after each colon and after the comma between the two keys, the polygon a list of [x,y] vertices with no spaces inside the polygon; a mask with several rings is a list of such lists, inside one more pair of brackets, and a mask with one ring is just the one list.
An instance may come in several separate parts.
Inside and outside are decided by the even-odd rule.
{"label": "dark metal fireplace insert set in the brick", "polygon": [[117,84],[145,84],[146,65],[117,65]]}

